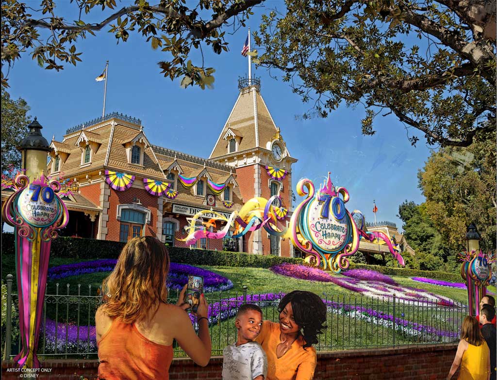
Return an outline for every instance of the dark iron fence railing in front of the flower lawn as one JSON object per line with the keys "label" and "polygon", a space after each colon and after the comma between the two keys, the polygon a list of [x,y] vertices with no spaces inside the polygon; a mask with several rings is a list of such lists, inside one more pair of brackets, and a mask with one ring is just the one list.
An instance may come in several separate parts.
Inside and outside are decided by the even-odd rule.
{"label": "dark iron fence railing in front of the flower lawn", "polygon": [[[4,358],[15,356],[21,346],[18,319],[10,313],[12,305],[17,308],[12,280],[13,277],[8,275]],[[278,304],[283,294],[251,294],[248,290],[244,287],[241,294],[206,295],[212,355],[222,355],[223,349],[236,341],[233,317],[244,303],[259,305],[264,319],[278,321]],[[100,293],[99,288],[91,285],[78,285],[74,290],[69,284],[62,288],[56,284],[55,294],[45,295],[39,356],[96,358],[94,316],[101,304]],[[168,302],[175,303],[177,298],[178,291],[169,292]],[[413,302],[396,297],[347,298],[323,293],[322,299],[327,306],[327,327],[314,346],[318,351],[456,342],[462,319],[468,313],[464,304],[442,306],[435,302]],[[192,323],[197,328],[193,317]],[[174,356],[185,356],[176,343]]]}

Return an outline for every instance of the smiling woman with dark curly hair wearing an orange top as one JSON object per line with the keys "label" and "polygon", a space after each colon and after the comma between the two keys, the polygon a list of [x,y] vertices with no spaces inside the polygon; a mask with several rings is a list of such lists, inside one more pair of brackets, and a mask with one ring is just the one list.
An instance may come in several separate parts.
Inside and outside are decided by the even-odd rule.
{"label": "smiling woman with dark curly hair wearing an orange top", "polygon": [[314,293],[295,290],[278,305],[279,323],[264,320],[255,341],[267,356],[265,380],[312,380],[318,334],[326,326],[326,305]]}

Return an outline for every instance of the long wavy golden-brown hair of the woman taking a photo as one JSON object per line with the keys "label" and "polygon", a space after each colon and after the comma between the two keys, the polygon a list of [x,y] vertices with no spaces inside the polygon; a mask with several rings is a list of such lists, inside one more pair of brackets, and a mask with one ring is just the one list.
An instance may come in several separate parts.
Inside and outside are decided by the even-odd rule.
{"label": "long wavy golden-brown hair of the woman taking a photo", "polygon": [[163,243],[151,236],[130,240],[103,280],[105,314],[133,323],[151,310],[157,312],[160,303],[167,302],[168,271],[169,254]]}

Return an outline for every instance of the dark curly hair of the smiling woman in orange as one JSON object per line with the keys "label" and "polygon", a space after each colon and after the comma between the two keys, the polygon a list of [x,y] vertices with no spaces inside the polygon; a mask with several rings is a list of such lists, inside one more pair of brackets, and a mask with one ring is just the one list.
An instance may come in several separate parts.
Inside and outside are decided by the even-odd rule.
{"label": "dark curly hair of the smiling woman in orange", "polygon": [[294,290],[280,301],[278,312],[282,312],[288,303],[292,304],[293,319],[302,329],[304,348],[318,343],[318,334],[322,334],[326,325],[326,305],[318,295]]}

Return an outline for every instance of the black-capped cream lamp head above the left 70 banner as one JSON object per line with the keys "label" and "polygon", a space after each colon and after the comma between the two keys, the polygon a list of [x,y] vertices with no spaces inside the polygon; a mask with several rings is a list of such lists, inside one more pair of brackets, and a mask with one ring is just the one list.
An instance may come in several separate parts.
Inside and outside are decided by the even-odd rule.
{"label": "black-capped cream lamp head above the left 70 banner", "polygon": [[40,123],[34,118],[28,126],[29,132],[17,148],[21,151],[21,167],[25,169],[26,176],[32,181],[47,169],[47,153],[52,150],[48,141],[41,134]]}

